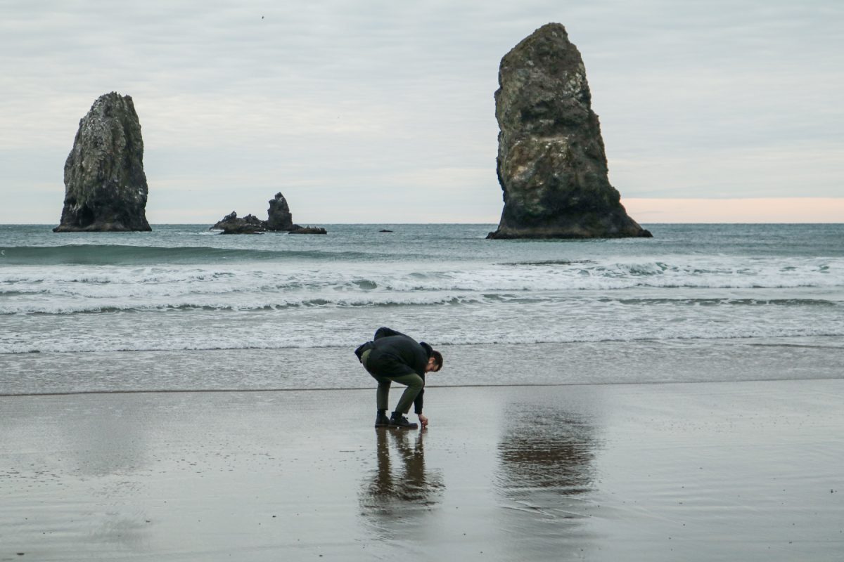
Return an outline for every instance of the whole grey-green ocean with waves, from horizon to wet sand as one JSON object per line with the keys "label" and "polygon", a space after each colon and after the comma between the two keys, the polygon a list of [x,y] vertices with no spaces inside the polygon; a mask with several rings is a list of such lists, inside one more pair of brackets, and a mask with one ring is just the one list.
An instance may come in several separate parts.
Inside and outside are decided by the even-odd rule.
{"label": "whole grey-green ocean with waves, from horizon to wet sand", "polygon": [[352,350],[379,326],[443,352],[430,386],[844,372],[844,224],[51,226],[0,225],[0,394],[368,388]]}

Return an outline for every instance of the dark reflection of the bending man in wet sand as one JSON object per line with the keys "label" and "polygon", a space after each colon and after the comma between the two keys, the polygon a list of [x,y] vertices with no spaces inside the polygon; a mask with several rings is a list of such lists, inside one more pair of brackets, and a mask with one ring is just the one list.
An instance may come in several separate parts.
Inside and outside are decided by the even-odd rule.
{"label": "dark reflection of the bending man in wet sand", "polygon": [[425,433],[376,429],[377,468],[361,490],[360,506],[381,538],[419,522],[440,500],[442,476],[425,468]]}

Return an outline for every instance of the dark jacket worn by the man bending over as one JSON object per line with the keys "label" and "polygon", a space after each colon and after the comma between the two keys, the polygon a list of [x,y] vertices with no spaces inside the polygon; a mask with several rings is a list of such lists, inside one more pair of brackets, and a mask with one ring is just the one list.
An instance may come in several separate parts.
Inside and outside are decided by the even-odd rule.
{"label": "dark jacket worn by the man bending over", "polygon": [[[354,350],[354,355],[363,355],[364,351],[371,350],[366,358],[364,367],[371,374],[377,377],[401,377],[415,373],[425,381],[425,366],[428,364],[433,350],[424,341],[417,342],[408,335],[403,335],[394,329],[379,328],[376,330],[372,341],[367,341]],[[422,413],[423,388],[414,400],[414,411]]]}

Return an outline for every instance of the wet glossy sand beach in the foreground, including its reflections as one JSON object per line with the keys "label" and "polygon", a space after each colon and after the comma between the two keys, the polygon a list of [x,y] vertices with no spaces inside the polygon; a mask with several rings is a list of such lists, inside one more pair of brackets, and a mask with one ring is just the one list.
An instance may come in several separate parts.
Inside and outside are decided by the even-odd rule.
{"label": "wet glossy sand beach in the foreground, including its reflections", "polygon": [[374,388],[0,397],[0,560],[841,560],[842,394],[429,388],[427,431]]}

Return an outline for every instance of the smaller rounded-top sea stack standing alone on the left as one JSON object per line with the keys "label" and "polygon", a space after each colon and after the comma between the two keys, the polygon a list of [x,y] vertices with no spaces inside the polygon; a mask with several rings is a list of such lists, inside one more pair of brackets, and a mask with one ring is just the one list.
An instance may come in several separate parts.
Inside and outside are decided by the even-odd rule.
{"label": "smaller rounded-top sea stack standing alone on the left", "polygon": [[131,96],[101,95],[81,120],[64,164],[56,233],[149,231],[141,124]]}

